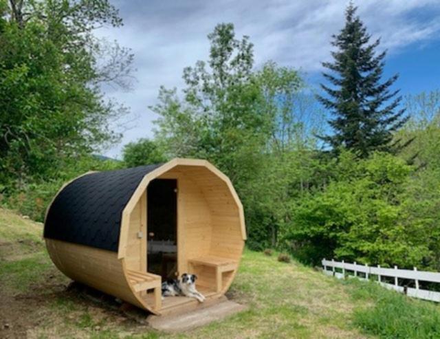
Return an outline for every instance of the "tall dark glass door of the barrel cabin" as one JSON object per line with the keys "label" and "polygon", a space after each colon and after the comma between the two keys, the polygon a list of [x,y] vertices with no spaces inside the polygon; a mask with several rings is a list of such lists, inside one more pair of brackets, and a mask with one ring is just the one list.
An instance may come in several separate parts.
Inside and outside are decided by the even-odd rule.
{"label": "tall dark glass door of the barrel cabin", "polygon": [[175,278],[177,272],[177,179],[154,179],[147,188],[147,271]]}

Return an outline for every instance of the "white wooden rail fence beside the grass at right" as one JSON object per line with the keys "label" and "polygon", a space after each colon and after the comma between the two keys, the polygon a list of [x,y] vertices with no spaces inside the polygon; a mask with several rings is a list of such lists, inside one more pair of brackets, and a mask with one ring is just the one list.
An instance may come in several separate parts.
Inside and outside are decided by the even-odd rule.
{"label": "white wooden rail fence beside the grass at right", "polygon": [[[377,283],[388,288],[394,289],[397,292],[405,293],[408,296],[414,298],[431,300],[440,303],[440,292],[429,291],[428,289],[420,289],[419,281],[427,281],[430,283],[440,283],[440,273],[418,271],[416,267],[414,270],[399,270],[397,266],[394,268],[383,268],[380,265],[358,265],[357,263],[344,263],[344,261],[334,261],[322,259],[323,272],[329,276],[336,276],[336,278],[343,279],[346,276],[354,276],[361,280],[368,280],[369,276],[377,276]],[[342,272],[336,272],[336,268],[340,268]],[[347,274],[347,271],[353,272],[353,275]],[[363,276],[359,276],[358,273],[363,273]],[[394,284],[384,283],[382,276],[388,276],[394,278]],[[399,285],[399,278],[409,279],[415,281],[415,288],[404,287]]]}

